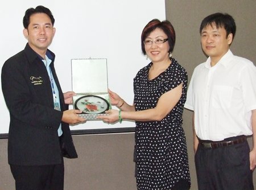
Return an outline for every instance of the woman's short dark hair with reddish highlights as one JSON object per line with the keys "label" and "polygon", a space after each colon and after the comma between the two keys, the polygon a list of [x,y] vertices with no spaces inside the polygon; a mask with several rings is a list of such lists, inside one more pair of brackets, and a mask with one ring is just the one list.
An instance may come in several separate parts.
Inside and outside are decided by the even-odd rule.
{"label": "woman's short dark hair with reddish highlights", "polygon": [[163,30],[164,34],[167,35],[167,38],[168,38],[167,42],[170,46],[170,49],[168,52],[170,53],[174,51],[176,35],[175,35],[174,27],[172,26],[171,22],[169,22],[168,20],[164,20],[163,22],[160,22],[160,20],[158,19],[153,19],[149,23],[147,23],[147,25],[144,27],[141,34],[141,48],[144,55],[146,55],[144,40],[156,28],[160,28],[161,30]]}

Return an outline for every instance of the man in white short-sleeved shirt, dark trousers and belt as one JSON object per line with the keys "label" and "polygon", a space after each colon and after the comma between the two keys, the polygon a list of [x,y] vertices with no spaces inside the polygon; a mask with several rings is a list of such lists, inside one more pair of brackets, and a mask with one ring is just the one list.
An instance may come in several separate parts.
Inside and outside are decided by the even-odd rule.
{"label": "man in white short-sleeved shirt, dark trousers and belt", "polygon": [[[200,34],[209,57],[195,68],[185,103],[193,110],[198,187],[254,189],[256,67],[230,51],[236,23],[229,14],[204,18]],[[251,151],[248,135],[253,135]]]}

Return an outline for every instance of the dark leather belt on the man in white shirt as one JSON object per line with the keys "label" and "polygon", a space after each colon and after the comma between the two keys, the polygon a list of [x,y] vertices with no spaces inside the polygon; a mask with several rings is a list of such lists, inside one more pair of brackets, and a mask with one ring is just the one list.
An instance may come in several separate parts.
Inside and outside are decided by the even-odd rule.
{"label": "dark leather belt on the man in white shirt", "polygon": [[218,147],[224,147],[224,146],[231,146],[231,145],[239,144],[245,141],[246,141],[246,136],[243,136],[243,135],[242,137],[240,136],[239,138],[233,139],[230,141],[224,140],[224,141],[209,142],[209,141],[203,141],[199,139],[199,143],[202,144],[204,148],[218,148]]}

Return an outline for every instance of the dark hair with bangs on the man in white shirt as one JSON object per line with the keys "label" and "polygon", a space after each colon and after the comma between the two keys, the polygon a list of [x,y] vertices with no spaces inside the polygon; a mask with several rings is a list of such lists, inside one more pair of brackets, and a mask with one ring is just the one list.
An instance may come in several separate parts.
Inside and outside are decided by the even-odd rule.
{"label": "dark hair with bangs on the man in white shirt", "polygon": [[226,30],[226,38],[228,38],[229,34],[236,35],[236,22],[234,21],[233,17],[229,14],[223,14],[223,13],[214,13],[204,18],[204,20],[201,22],[200,26],[200,34],[202,30],[207,27],[210,24],[210,26],[213,26],[213,24],[216,24],[216,28],[224,27]]}

